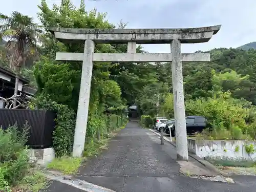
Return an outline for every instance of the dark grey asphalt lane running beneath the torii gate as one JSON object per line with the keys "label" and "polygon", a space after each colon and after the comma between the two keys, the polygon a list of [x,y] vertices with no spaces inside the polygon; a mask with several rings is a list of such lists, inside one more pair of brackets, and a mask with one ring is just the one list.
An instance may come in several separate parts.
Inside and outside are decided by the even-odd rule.
{"label": "dark grey asphalt lane running beneath the torii gate", "polygon": [[[125,192],[255,191],[254,177],[248,176],[236,184],[227,184],[191,179],[180,175],[179,168],[174,146],[167,142],[160,145],[157,135],[141,129],[136,122],[129,122],[110,141],[109,150],[92,158],[80,169],[78,178]],[[57,188],[55,191],[68,191]]]}

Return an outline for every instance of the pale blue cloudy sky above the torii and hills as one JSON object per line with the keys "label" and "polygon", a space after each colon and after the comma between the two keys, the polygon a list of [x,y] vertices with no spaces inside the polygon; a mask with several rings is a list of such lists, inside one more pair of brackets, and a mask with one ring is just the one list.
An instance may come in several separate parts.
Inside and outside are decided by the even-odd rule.
{"label": "pale blue cloudy sky above the torii and hills", "polygon": [[[37,19],[40,0],[0,0],[5,2],[0,12],[10,15],[18,11]],[[96,7],[98,12],[108,13],[108,20],[118,24],[128,23],[126,28],[189,28],[222,25],[210,41],[202,44],[182,45],[182,53],[214,48],[237,48],[256,41],[255,0],[85,0],[88,11]],[[79,6],[80,0],[72,0]],[[47,0],[49,5],[60,0]],[[143,45],[150,53],[169,53],[169,45]]]}

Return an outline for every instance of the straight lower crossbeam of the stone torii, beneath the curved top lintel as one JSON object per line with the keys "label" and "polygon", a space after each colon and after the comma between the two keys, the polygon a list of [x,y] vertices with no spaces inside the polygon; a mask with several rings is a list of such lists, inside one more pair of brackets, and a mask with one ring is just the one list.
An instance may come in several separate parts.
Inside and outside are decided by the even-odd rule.
{"label": "straight lower crossbeam of the stone torii, beneath the curved top lintel", "polygon": [[[82,61],[84,53],[56,53],[56,60]],[[169,62],[171,53],[94,53],[93,61],[100,62]],[[209,53],[183,53],[182,62],[210,61]]]}

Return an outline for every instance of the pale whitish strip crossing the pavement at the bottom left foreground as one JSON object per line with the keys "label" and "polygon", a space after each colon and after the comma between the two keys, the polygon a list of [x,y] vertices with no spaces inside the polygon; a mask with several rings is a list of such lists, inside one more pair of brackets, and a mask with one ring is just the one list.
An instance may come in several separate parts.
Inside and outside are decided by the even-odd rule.
{"label": "pale whitish strip crossing the pavement at the bottom left foreground", "polygon": [[72,178],[72,176],[62,175],[60,173],[56,174],[57,172],[47,172],[45,176],[50,180],[55,180],[75,188],[87,191],[87,192],[115,192],[114,190],[104,188],[98,185],[94,185],[92,183]]}

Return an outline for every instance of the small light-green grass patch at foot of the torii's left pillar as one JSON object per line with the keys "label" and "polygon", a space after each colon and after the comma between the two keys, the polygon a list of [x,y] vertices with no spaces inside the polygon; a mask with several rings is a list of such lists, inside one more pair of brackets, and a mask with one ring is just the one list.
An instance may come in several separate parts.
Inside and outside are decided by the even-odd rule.
{"label": "small light-green grass patch at foot of the torii's left pillar", "polygon": [[81,161],[82,158],[63,156],[55,158],[47,167],[49,169],[58,170],[63,174],[70,175],[77,172]]}

